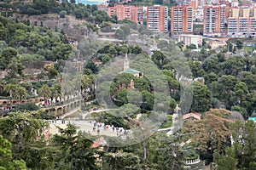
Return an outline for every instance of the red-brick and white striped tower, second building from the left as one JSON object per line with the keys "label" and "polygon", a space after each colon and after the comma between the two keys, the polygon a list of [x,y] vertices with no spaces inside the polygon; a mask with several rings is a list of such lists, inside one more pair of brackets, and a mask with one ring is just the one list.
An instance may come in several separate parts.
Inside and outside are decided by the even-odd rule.
{"label": "red-brick and white striped tower, second building from the left", "polygon": [[152,31],[168,31],[168,8],[160,5],[148,7],[147,28]]}

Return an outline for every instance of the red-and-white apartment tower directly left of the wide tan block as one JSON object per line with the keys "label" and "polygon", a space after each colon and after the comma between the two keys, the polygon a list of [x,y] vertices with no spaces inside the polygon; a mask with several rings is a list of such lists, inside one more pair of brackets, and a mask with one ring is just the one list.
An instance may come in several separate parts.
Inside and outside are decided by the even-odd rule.
{"label": "red-and-white apartment tower directly left of the wide tan block", "polygon": [[204,36],[223,37],[227,33],[227,18],[230,7],[225,5],[204,7]]}

